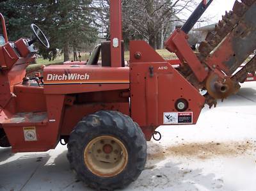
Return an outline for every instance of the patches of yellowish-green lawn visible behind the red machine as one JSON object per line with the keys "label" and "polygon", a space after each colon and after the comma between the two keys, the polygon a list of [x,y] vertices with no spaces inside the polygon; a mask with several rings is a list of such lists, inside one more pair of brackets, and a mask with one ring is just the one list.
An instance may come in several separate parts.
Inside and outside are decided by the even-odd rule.
{"label": "patches of yellowish-green lawn visible behind the red machine", "polygon": [[[160,54],[164,59],[175,59],[176,56],[173,53],[168,52],[168,50],[166,49],[162,49],[162,50],[156,50],[158,54]],[[82,52],[81,53],[82,56],[82,60],[87,60],[89,58],[89,53],[88,52]],[[125,51],[124,54],[125,60],[129,60],[129,51]],[[73,54],[70,54],[70,60],[74,59]],[[48,61],[46,59],[43,58],[38,58],[36,59],[36,64],[35,65],[30,65],[28,66],[27,70],[36,70],[36,68],[40,68],[40,66],[45,65],[45,66],[49,66],[49,65],[62,65],[64,61],[64,56],[60,55],[58,57],[56,57],[56,59],[54,59],[53,61]]]}

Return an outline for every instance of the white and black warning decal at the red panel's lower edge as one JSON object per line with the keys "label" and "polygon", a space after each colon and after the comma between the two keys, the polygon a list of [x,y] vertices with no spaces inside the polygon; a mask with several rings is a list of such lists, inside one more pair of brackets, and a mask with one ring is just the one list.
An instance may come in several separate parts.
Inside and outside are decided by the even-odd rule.
{"label": "white and black warning decal at the red panel's lower edge", "polygon": [[164,112],[164,125],[192,123],[193,112]]}

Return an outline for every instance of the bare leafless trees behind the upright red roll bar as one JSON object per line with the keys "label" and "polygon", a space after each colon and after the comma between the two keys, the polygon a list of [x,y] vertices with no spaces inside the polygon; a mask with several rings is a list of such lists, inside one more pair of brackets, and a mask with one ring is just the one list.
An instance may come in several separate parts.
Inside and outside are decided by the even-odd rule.
{"label": "bare leafless trees behind the upright red roll bar", "polygon": [[[189,10],[196,0],[123,0],[123,28],[124,40],[147,40],[148,43],[159,49],[163,41],[172,33],[170,27],[174,22],[180,21],[177,15]],[[108,34],[109,0],[93,0],[97,6],[98,19],[105,34]],[[104,19],[104,20],[103,20]]]}

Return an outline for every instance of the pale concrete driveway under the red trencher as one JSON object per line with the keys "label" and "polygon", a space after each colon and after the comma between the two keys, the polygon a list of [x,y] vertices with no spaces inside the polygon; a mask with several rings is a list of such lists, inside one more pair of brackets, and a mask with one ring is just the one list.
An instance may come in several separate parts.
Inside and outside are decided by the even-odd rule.
{"label": "pale concrete driveway under the red trencher", "polygon": [[[125,190],[255,190],[256,82],[216,109],[202,111],[195,126],[161,126],[148,142],[148,162]],[[0,190],[91,190],[76,180],[59,145],[46,153],[0,148]]]}

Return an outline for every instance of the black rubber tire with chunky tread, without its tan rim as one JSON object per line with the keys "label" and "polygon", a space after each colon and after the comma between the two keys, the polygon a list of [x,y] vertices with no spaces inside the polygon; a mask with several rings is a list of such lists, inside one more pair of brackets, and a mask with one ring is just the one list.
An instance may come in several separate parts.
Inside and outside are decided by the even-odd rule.
{"label": "black rubber tire with chunky tread, without its tan rim", "polygon": [[[85,167],[83,157],[78,154],[84,150],[84,140],[92,136],[93,132],[100,130],[113,135],[125,136],[120,140],[126,145],[129,158],[132,155],[132,164],[128,162],[124,171],[110,178],[109,181],[106,178],[95,176],[92,172],[88,173],[88,169],[83,171]],[[92,137],[90,138],[88,142],[92,140]],[[88,187],[97,190],[115,190],[129,185],[140,176],[147,160],[147,142],[141,128],[129,116],[118,111],[99,111],[84,117],[77,123],[70,134],[67,158],[71,169],[76,171],[77,178],[84,181]]]}

